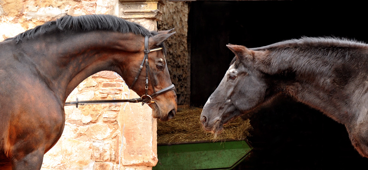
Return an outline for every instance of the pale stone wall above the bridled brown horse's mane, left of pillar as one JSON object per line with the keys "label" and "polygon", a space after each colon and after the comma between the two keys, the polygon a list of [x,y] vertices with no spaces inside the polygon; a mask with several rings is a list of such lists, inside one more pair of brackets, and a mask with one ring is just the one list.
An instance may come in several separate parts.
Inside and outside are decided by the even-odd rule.
{"label": "pale stone wall above the bridled brown horse's mane, left of pillar", "polygon": [[0,41],[62,15],[118,15],[117,0],[0,0]]}

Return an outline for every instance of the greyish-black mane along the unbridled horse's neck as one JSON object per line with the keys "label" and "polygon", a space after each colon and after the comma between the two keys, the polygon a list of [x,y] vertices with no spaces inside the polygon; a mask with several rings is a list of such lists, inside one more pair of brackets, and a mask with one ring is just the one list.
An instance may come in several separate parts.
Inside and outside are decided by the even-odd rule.
{"label": "greyish-black mane along the unbridled horse's neck", "polygon": [[[251,50],[265,51],[256,62],[264,73],[328,73],[332,67],[368,63],[368,45],[334,37],[302,37]],[[334,66],[335,65],[335,66]]]}

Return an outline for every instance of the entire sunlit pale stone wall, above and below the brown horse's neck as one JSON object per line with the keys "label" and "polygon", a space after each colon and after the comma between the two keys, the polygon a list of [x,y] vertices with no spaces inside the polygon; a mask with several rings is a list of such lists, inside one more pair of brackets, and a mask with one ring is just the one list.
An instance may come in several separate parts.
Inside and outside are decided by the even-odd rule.
{"label": "entire sunlit pale stone wall, above and below the brown horse's neck", "polygon": [[[144,0],[137,1],[145,10],[155,3],[150,0],[150,5],[144,5]],[[122,16],[125,7],[119,0],[0,0],[0,41],[62,15]],[[158,9],[153,11],[159,13]],[[157,30],[158,18],[142,15],[125,18]],[[67,101],[76,97],[90,100],[138,96],[116,73],[100,72],[80,83]],[[65,115],[64,132],[45,154],[42,170],[150,170],[157,164],[157,121],[152,118],[149,106],[139,103],[65,106]]]}

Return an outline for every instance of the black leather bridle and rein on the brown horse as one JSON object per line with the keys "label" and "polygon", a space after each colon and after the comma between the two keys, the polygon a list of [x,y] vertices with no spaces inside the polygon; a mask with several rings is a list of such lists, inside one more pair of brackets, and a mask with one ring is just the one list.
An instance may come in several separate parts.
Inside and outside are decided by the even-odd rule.
{"label": "black leather bridle and rein on the brown horse", "polygon": [[[78,101],[78,98],[76,98],[76,101],[71,101],[71,102],[65,102],[65,105],[76,105],[76,107],[78,108],[78,105],[84,105],[84,104],[104,104],[104,103],[119,103],[119,102],[130,102],[130,103],[139,103],[142,102],[143,104],[151,104],[154,103],[155,101],[153,101],[153,98],[162,95],[166,92],[172,91],[175,89],[174,84],[171,84],[168,87],[165,87],[159,91],[156,92],[155,90],[155,86],[153,81],[151,81],[151,86],[153,89],[153,94],[148,95],[148,75],[150,74],[151,77],[152,73],[149,71],[150,70],[150,66],[148,65],[148,53],[150,52],[154,52],[154,51],[159,51],[162,50],[162,47],[157,48],[157,49],[148,49],[148,36],[144,37],[144,57],[142,60],[142,63],[139,66],[138,69],[138,73],[136,74],[133,83],[131,83],[131,86],[129,87],[129,89],[131,89],[135,82],[138,80],[139,74],[143,69],[143,64],[145,64],[146,67],[146,82],[145,82],[145,91],[146,93],[142,96],[142,97],[138,97],[138,98],[130,98],[130,99],[117,99],[117,100],[85,100],[85,101]],[[164,54],[165,55],[165,54]]]}

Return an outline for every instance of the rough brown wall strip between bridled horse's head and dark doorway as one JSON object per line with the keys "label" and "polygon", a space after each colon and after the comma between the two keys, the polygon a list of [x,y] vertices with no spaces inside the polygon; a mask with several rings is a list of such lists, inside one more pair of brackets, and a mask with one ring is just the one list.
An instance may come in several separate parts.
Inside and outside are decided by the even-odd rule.
{"label": "rough brown wall strip between bridled horse's head and dark doorway", "polygon": [[190,104],[190,56],[187,47],[189,2],[167,1],[162,8],[158,30],[175,28],[176,33],[167,41],[167,64],[171,81],[175,84],[178,105]]}

